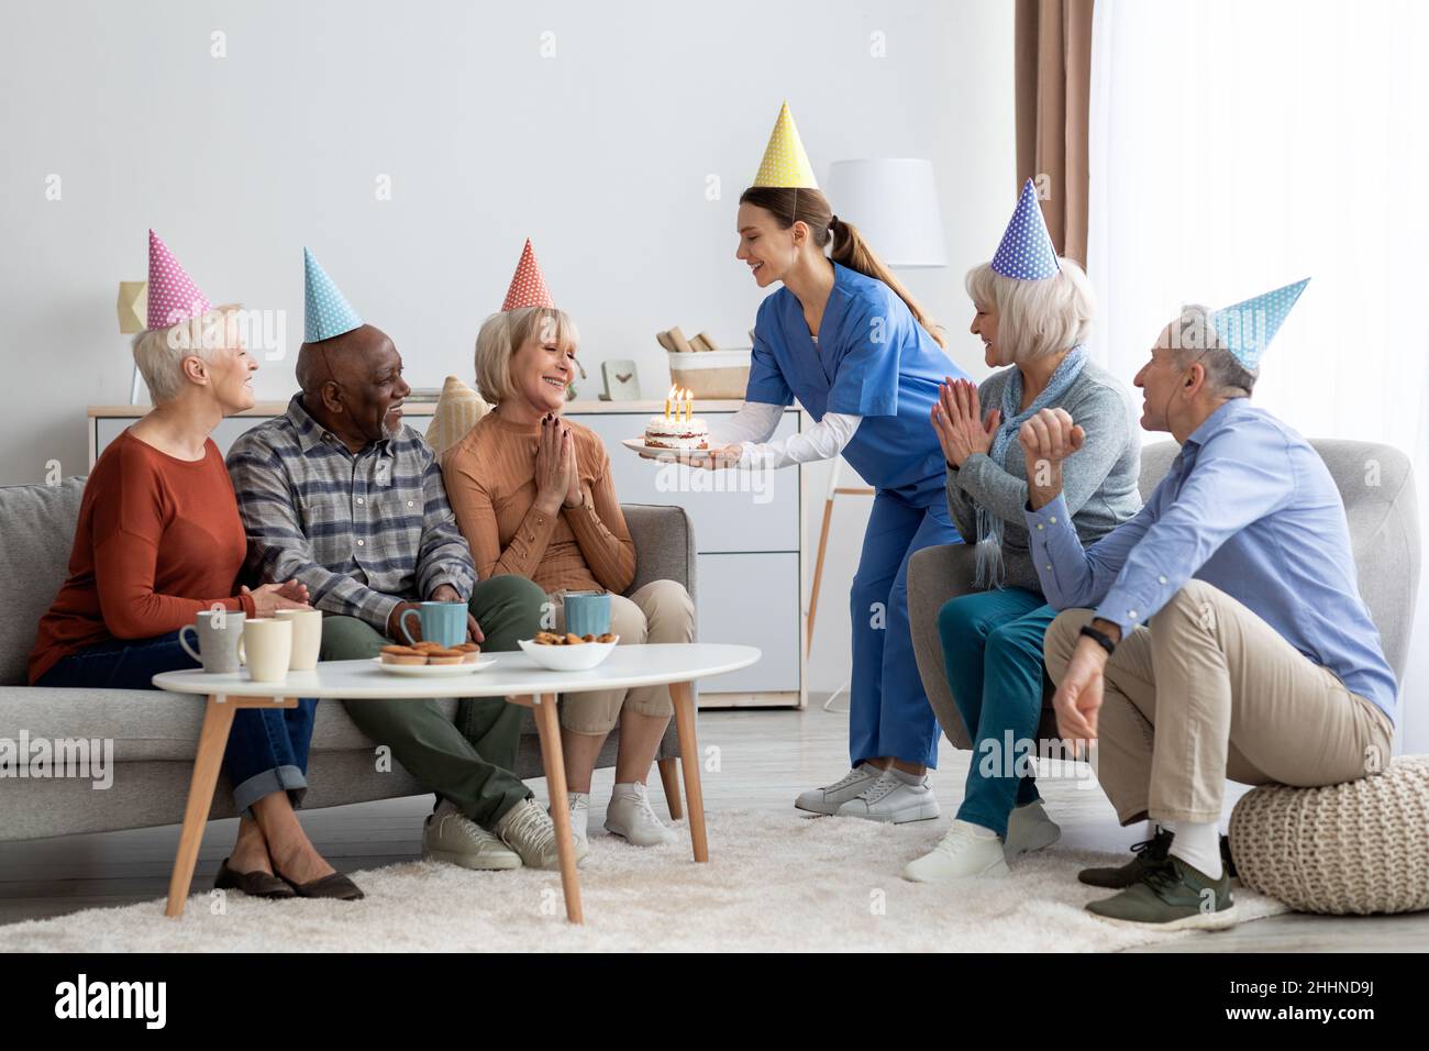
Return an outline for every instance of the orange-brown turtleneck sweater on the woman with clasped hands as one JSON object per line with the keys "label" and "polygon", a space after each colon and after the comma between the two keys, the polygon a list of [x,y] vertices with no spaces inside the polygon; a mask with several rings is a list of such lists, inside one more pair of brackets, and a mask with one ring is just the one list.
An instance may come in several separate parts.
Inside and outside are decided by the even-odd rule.
{"label": "orange-brown turtleneck sweater on the woman with clasped hands", "polygon": [[543,591],[623,592],[634,579],[634,543],[620,513],[610,456],[589,428],[572,429],[584,502],[544,515],[536,503],[540,423],[489,412],[442,456],[456,522],[482,579],[513,573]]}

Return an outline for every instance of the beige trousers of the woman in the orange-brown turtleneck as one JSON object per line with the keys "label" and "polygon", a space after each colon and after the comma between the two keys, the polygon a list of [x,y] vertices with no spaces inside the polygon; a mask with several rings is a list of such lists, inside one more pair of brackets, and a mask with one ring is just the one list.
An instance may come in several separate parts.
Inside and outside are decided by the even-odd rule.
{"label": "beige trousers of the woman in the orange-brown turtleneck", "polygon": [[[556,631],[566,631],[566,596],[552,592],[546,596],[556,606]],[[646,642],[693,642],[694,602],[679,581],[652,581],[634,595],[610,596],[610,631],[620,636],[620,645]],[[572,694],[560,698],[560,725],[573,734],[609,734],[629,708],[640,715],[666,716],[674,714],[669,686],[636,686],[600,694]]]}

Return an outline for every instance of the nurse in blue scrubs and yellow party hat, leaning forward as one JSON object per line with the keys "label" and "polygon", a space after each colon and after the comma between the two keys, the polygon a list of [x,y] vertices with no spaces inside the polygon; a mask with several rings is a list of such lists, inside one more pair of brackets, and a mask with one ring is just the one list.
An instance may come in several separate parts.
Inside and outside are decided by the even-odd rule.
{"label": "nurse in blue scrubs and yellow party hat, leaning forward", "polygon": [[[922,548],[959,542],[930,420],[939,383],[966,373],[859,232],[832,214],[787,104],[740,196],[737,226],[736,255],[755,282],[783,287],[759,307],[743,408],[712,429],[716,462],[769,469],[842,455],[876,492],[849,599],[850,769],[795,805],[873,821],[936,818],[927,768],[937,765],[939,726],[913,659],[907,563]],[[795,399],[816,425],[770,442]]]}

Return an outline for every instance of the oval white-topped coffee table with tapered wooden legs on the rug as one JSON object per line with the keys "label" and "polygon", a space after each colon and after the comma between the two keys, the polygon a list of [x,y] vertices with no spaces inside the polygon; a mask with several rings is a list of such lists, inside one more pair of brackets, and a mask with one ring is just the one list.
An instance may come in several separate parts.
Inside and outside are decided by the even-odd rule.
{"label": "oval white-topped coffee table with tapered wooden legs on the rug", "polygon": [[[169,879],[169,904],[164,914],[183,915],[234,712],[239,708],[294,708],[300,696],[389,698],[393,704],[402,704],[404,698],[426,696],[504,696],[510,704],[532,708],[540,732],[546,786],[553,802],[552,824],[556,827],[566,918],[579,924],[583,922],[580,881],[576,875],[576,847],[570,838],[570,809],[563,805],[566,766],[560,749],[560,724],[556,719],[556,695],[669,685],[680,741],[684,794],[690,808],[690,845],[694,861],[709,861],[690,684],[694,679],[747,668],[759,661],[759,649],[709,642],[616,646],[603,663],[587,672],[546,671],[523,652],[483,653],[483,656],[494,658],[496,663],[472,675],[452,678],[393,675],[372,661],[327,661],[319,663],[316,671],[289,672],[283,682],[253,682],[247,671],[209,675],[194,669],[156,675],[154,686],[159,689],[209,698],[203,729],[199,732],[199,751],[194,756],[193,779],[189,782],[189,802],[184,806],[183,831],[179,834],[179,852]],[[669,791],[667,784],[666,792]]]}

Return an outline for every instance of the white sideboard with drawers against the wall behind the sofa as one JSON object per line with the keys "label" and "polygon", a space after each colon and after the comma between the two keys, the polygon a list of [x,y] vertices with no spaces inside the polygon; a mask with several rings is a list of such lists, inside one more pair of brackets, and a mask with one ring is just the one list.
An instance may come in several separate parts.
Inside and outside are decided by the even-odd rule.
{"label": "white sideboard with drawers against the wall behind the sofa", "polygon": [[[256,423],[286,410],[262,403],[219,423],[213,440],[227,453]],[[706,402],[704,419],[729,416],[739,402]],[[90,466],[114,438],[146,412],[141,405],[91,406]],[[409,402],[406,422],[424,432],[433,406]],[[684,508],[697,552],[697,623],[702,642],[739,642],[763,651],[759,663],[700,685],[702,708],[803,708],[807,704],[802,603],[805,575],[805,476],[800,468],[769,475],[690,470],[643,460],[620,442],[644,432],[657,402],[570,402],[566,415],[594,430],[610,452],[616,492],[624,503]],[[777,436],[803,425],[799,408],[785,410]]]}

